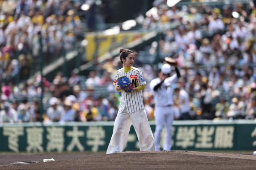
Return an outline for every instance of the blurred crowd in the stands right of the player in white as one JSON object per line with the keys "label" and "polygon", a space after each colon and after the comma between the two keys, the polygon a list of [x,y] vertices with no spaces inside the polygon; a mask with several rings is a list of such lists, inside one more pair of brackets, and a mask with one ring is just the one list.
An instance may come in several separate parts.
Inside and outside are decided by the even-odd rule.
{"label": "blurred crowd in the stands right of the player in white", "polygon": [[[253,2],[176,6],[155,0],[144,27],[163,32],[160,56],[176,56],[176,119],[255,119],[256,8]],[[152,43],[150,54],[156,53]],[[162,58],[163,58],[162,57]],[[189,106],[188,106],[189,105]]]}

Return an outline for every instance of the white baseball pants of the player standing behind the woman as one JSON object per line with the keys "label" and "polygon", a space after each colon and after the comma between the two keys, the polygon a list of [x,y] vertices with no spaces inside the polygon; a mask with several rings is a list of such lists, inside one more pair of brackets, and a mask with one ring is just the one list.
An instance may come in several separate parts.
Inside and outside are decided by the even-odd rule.
{"label": "white baseball pants of the player standing behind the woman", "polygon": [[163,150],[171,150],[172,148],[172,121],[174,119],[172,106],[160,107],[156,106],[154,110],[154,118],[156,122],[156,130],[154,132],[155,150],[160,150],[160,137],[163,126],[166,127],[166,134],[163,144]]}

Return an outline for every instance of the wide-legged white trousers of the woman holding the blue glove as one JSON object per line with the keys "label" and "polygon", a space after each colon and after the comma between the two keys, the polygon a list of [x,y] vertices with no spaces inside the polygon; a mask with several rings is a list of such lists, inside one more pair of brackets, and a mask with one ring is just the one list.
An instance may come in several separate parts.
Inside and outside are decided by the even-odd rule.
{"label": "wide-legged white trousers of the woman holding the blue glove", "polygon": [[140,151],[154,150],[154,136],[148,123],[146,111],[128,113],[127,108],[118,113],[114,123],[113,134],[108,145],[107,154],[122,152],[128,139],[131,123],[140,143]]}

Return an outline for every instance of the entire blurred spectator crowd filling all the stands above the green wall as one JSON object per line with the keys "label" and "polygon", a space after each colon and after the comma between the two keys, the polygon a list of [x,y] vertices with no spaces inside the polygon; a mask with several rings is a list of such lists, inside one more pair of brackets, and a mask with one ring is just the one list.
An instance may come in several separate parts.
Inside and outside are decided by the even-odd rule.
{"label": "entire blurred spectator crowd filling all the stands above the green wall", "polygon": [[[62,72],[53,81],[29,78],[32,60],[38,59],[42,34],[45,61],[58,58],[82,40],[82,22],[76,13],[79,0],[0,0],[0,122],[113,121],[121,94],[113,87],[119,56],[98,62],[87,76]],[[256,118],[256,8],[252,1],[212,6],[173,6],[154,0],[153,8],[137,23],[155,28],[159,39],[144,50],[133,49],[134,67],[148,83],[143,102],[154,120],[154,99],[149,83],[166,56],[177,59],[181,78],[173,85],[175,119]],[[143,18],[141,18],[143,17]],[[135,18],[134,18],[135,19]],[[90,43],[90,42],[89,42]],[[156,63],[160,61],[160,63]],[[27,78],[21,86],[12,77]],[[8,80],[8,81],[7,81]],[[41,88],[40,82],[43,82]],[[6,83],[8,82],[8,83]],[[44,114],[40,115],[43,93]],[[189,112],[189,116],[183,116]]]}

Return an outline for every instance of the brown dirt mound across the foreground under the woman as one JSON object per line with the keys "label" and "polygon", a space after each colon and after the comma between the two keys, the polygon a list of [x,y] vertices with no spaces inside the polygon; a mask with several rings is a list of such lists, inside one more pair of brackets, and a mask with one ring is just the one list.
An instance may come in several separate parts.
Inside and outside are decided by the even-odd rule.
{"label": "brown dirt mound across the foreground under the woman", "polygon": [[[50,158],[49,158],[50,159]],[[42,161],[42,160],[41,160]],[[1,170],[36,169],[111,169],[111,170],[153,170],[153,169],[208,169],[208,170],[253,170],[256,156],[228,153],[194,151],[133,151],[96,155],[82,158],[39,162],[25,165],[1,165]]]}

